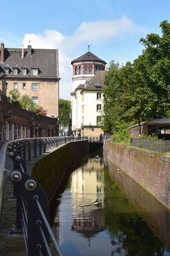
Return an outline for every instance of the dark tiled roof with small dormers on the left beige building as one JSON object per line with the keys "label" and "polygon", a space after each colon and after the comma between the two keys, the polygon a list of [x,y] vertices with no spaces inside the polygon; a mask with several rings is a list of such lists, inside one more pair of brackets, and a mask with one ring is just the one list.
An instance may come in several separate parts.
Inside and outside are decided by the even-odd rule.
{"label": "dark tiled roof with small dormers on the left beige building", "polygon": [[[9,75],[5,75],[3,71],[4,67],[14,67],[18,65],[18,69],[21,71],[22,68],[26,67],[29,72],[24,75],[24,78],[32,78],[31,69],[38,68],[39,74],[36,78],[59,78],[58,71],[58,50],[57,49],[32,49],[32,54],[28,55],[28,49],[24,49],[24,57],[22,57],[22,49],[20,48],[5,48],[4,49],[4,63],[1,63],[2,67],[0,77],[14,77],[13,72]],[[19,72],[15,75],[15,78],[21,78],[22,73]]]}

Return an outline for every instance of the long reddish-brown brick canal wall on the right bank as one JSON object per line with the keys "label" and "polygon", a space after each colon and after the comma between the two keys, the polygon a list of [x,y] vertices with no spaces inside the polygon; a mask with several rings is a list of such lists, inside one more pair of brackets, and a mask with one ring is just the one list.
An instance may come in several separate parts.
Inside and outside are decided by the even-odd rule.
{"label": "long reddish-brown brick canal wall on the right bank", "polygon": [[170,209],[170,156],[106,140],[104,155]]}

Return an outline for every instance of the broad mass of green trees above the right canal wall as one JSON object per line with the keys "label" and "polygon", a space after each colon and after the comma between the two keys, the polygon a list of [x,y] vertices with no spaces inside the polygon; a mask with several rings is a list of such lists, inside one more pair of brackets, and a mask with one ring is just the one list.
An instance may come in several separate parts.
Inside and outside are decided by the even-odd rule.
{"label": "broad mass of green trees above the right canal wall", "polygon": [[162,21],[160,27],[162,36],[141,38],[145,49],[134,63],[120,66],[110,61],[106,71],[103,130],[116,134],[119,129],[121,139],[119,122],[138,123],[141,134],[141,122],[170,117],[170,24]]}

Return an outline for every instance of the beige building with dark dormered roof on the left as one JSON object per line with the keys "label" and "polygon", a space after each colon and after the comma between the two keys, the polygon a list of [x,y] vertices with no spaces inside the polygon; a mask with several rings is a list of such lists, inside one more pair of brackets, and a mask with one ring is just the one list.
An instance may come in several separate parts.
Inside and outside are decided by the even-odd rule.
{"label": "beige building with dark dormered roof on the left", "polygon": [[59,80],[58,50],[4,48],[1,43],[0,95],[18,89],[47,110],[47,116],[58,117]]}

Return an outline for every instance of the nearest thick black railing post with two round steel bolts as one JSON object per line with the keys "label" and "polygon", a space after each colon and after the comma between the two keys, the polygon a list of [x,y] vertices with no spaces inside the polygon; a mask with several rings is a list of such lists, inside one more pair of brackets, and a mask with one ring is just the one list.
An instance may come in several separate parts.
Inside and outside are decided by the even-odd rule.
{"label": "nearest thick black railing post with two round steel bolts", "polygon": [[[21,177],[20,180],[19,177]],[[49,203],[47,201],[46,194],[41,189],[38,182],[36,182],[26,173],[21,173],[20,171],[12,171],[10,180],[13,182],[15,189],[18,191],[20,198],[23,198],[25,201],[27,207],[27,255],[49,255],[44,244],[44,239],[42,238],[41,232],[39,231],[39,226],[41,226],[47,244],[49,244],[49,232],[47,232],[47,228],[42,218],[41,212],[39,211],[36,204],[36,199],[38,199],[43,213],[46,216],[47,221],[49,221]],[[18,210],[23,213],[22,207],[20,207]],[[38,252],[39,248],[41,249],[41,254]]]}

